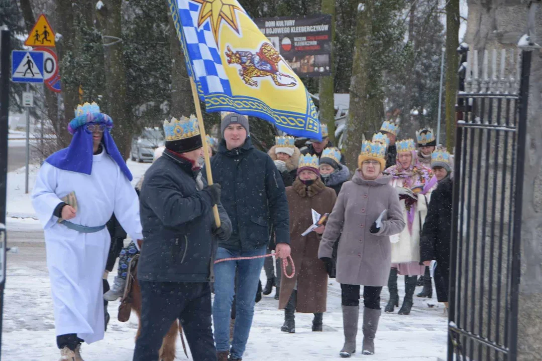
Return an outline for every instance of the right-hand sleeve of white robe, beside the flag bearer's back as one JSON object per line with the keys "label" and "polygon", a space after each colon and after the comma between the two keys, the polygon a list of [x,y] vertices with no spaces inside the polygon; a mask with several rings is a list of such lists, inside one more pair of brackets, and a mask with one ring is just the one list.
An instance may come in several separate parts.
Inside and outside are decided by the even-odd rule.
{"label": "right-hand sleeve of white robe, beside the flag bearer's back", "polygon": [[137,240],[143,239],[141,220],[139,218],[139,198],[130,181],[120,169],[117,173],[117,186],[115,187],[114,213],[122,228],[130,235],[136,247],[138,247]]}

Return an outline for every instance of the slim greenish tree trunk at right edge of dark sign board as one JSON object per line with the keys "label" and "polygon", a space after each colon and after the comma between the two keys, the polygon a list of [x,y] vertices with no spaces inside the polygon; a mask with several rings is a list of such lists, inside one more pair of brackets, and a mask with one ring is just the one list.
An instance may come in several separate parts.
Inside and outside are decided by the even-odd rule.
{"label": "slim greenish tree trunk at right edge of dark sign board", "polygon": [[335,38],[335,0],[322,0],[322,14],[331,14],[331,54],[330,65],[331,75],[322,76],[319,84],[319,108],[320,108],[320,122],[327,123],[327,129],[330,135],[330,139],[336,146],[335,142],[335,108],[334,108],[334,83],[333,77],[335,75],[334,62],[333,62],[333,40]]}

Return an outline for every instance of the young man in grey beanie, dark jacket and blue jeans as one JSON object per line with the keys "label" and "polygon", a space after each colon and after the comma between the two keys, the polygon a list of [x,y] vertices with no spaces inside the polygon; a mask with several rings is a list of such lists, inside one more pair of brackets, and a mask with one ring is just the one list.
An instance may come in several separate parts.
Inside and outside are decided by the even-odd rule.
{"label": "young man in grey beanie, dark jacket and blue jeans", "polygon": [[[289,211],[279,171],[266,153],[253,147],[247,117],[229,113],[221,123],[222,141],[212,157],[215,182],[222,186],[221,202],[233,232],[218,242],[217,259],[266,254],[269,221],[275,229],[280,258],[290,254]],[[218,360],[241,360],[247,344],[263,258],[224,261],[215,265],[212,316]],[[237,268],[236,318],[229,342],[231,301]]]}

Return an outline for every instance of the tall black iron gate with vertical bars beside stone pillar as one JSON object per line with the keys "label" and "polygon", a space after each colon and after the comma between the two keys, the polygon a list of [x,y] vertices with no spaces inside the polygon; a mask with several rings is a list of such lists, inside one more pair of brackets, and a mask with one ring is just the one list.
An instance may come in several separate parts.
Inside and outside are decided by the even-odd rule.
{"label": "tall black iron gate with vertical bars beside stone pillar", "polygon": [[470,51],[463,57],[448,361],[515,361],[531,51]]}

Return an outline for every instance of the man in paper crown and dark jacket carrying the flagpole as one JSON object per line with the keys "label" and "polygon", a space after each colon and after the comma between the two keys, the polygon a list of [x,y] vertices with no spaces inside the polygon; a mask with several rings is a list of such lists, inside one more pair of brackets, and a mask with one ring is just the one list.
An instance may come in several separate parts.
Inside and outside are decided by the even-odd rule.
{"label": "man in paper crown and dark jacket carrying the flagpole", "polygon": [[[180,319],[194,361],[216,361],[211,330],[214,238],[231,234],[220,185],[207,186],[195,118],[164,122],[166,150],[145,173],[140,193],[143,246],[138,264],[141,334],[134,361],[158,360],[162,339]],[[221,226],[212,207],[218,205]]]}

